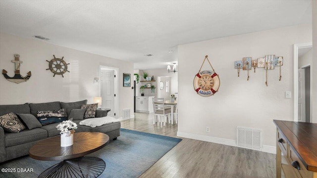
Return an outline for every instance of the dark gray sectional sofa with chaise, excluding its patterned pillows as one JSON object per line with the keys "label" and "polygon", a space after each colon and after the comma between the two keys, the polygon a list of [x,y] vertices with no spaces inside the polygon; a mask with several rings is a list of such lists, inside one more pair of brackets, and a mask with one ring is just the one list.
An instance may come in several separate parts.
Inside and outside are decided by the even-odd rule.
{"label": "dark gray sectional sofa with chaise, excluding its patterned pillows", "polygon": [[[87,104],[87,100],[72,103],[50,102],[39,104],[26,103],[23,105],[0,105],[0,116],[8,113],[15,113],[32,114],[36,117],[37,111],[52,111],[63,108],[67,111],[67,114],[69,115],[71,110],[80,109],[81,105],[83,104]],[[106,110],[96,111],[96,117],[98,118],[105,117],[106,115]],[[103,132],[106,133],[109,138],[113,140],[120,136],[121,125],[119,121],[107,123],[98,127],[90,127],[79,124],[79,122],[83,120],[83,118],[76,115],[72,115],[72,117],[73,121],[78,125],[78,128],[75,130],[75,132]],[[39,126],[38,123],[36,123],[35,125],[38,126],[33,126],[32,123],[28,123],[26,129],[18,133],[6,132],[3,130],[2,127],[0,127],[0,163],[10,159],[28,155],[29,149],[38,141],[48,137],[59,135],[59,130],[57,130],[56,128],[56,125],[58,124],[59,123],[50,123],[44,126]],[[29,125],[32,125],[32,127]],[[28,127],[31,129],[29,129]]]}

